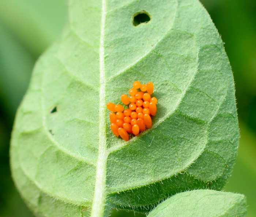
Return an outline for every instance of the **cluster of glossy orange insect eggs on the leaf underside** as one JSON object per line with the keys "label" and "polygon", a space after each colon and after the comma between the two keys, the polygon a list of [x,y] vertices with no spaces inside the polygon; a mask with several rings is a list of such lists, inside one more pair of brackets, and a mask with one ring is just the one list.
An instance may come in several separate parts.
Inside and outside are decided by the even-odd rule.
{"label": "cluster of glossy orange insect eggs on the leaf underside", "polygon": [[[140,91],[138,91],[140,89]],[[152,82],[140,84],[139,81],[133,83],[129,90],[129,95],[121,95],[121,101],[128,105],[125,108],[121,104],[107,103],[109,113],[110,128],[115,136],[119,136],[125,141],[129,140],[129,134],[138,135],[146,128],[152,127],[152,116],[157,113],[157,98],[151,97],[154,85]]]}

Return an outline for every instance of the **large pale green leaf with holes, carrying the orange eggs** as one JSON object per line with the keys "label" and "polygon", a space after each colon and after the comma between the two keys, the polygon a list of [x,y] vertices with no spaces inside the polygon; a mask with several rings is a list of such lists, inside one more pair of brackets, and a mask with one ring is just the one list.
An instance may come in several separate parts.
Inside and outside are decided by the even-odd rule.
{"label": "large pale green leaf with holes, carrying the orange eggs", "polygon": [[[140,11],[151,20],[135,27]],[[158,113],[125,142],[111,133],[106,103],[135,80],[154,83]],[[181,191],[221,189],[238,138],[229,60],[198,0],[70,0],[68,25],[18,110],[12,173],[35,213],[46,209],[41,194],[94,217],[111,207],[148,212]]]}

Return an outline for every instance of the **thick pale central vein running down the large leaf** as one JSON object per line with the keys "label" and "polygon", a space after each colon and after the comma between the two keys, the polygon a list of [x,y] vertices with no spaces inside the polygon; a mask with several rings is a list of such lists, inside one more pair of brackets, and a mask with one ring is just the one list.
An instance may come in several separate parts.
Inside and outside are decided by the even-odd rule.
{"label": "thick pale central vein running down the large leaf", "polygon": [[106,19],[106,2],[101,4],[101,36],[99,41],[99,154],[96,168],[91,217],[102,217],[105,209],[106,192],[106,121],[105,121],[105,64],[104,64],[104,31]]}

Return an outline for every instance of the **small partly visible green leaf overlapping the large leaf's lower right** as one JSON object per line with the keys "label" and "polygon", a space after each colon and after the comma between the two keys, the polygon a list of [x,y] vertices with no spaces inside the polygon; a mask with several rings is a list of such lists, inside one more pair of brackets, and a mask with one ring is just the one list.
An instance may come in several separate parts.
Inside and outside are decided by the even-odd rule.
{"label": "small partly visible green leaf overlapping the large leaf's lower right", "polygon": [[147,217],[242,217],[246,216],[246,199],[242,194],[215,190],[183,192],[159,204]]}

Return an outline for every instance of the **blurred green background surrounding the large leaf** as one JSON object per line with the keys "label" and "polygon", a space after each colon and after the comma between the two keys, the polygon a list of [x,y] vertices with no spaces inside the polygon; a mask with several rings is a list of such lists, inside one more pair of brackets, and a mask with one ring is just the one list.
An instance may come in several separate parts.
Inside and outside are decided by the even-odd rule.
{"label": "blurred green background surrounding the large leaf", "polygon": [[[256,1],[201,0],[225,42],[236,82],[241,140],[226,191],[243,193],[256,216]],[[39,55],[61,32],[66,0],[0,1],[0,216],[33,216],[11,179],[9,140],[16,108]],[[85,213],[84,213],[85,214]],[[135,216],[114,212],[112,216]],[[136,214],[136,216],[142,216]]]}

